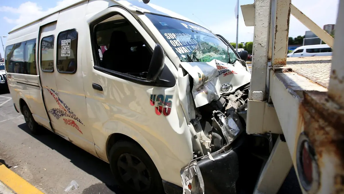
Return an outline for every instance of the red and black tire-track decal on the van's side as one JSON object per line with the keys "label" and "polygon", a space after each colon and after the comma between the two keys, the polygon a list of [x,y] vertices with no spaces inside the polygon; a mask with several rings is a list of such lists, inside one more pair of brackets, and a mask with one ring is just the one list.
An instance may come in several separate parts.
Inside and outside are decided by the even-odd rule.
{"label": "red and black tire-track decal on the van's side", "polygon": [[[46,86],[46,89],[49,91],[49,94],[55,99],[57,105],[59,108],[52,108],[50,109],[48,112],[50,114],[52,114],[56,119],[60,119],[61,117],[69,117],[69,118],[72,118],[74,120],[76,120],[77,122],[81,123],[82,125],[83,122],[81,122],[81,120],[73,113],[73,111],[68,107],[68,105],[66,103],[64,103],[64,101],[58,97],[58,93],[47,87]],[[66,125],[70,125],[74,128],[76,128],[81,134],[82,134],[82,131],[80,130],[79,126],[71,119],[63,119],[65,124]]]}

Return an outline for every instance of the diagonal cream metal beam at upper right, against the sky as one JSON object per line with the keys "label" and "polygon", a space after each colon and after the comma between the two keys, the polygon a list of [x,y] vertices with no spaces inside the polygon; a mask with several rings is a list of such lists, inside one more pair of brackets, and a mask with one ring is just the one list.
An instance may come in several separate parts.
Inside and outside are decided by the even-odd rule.
{"label": "diagonal cream metal beam at upper right, against the sky", "polygon": [[[333,38],[325,30],[320,28],[316,23],[309,19],[305,14],[303,14],[294,5],[291,5],[290,13],[298,19],[303,25],[310,29],[316,36],[318,36],[322,41],[326,42],[331,48],[333,48]],[[338,12],[339,13],[339,12]]]}

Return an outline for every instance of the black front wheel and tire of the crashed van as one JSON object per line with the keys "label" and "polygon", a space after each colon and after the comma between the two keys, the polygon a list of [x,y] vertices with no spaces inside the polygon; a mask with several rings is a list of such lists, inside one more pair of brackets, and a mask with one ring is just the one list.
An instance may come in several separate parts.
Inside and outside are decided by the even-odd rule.
{"label": "black front wheel and tire of the crashed van", "polygon": [[157,167],[138,144],[127,141],[115,143],[110,150],[109,162],[111,172],[124,192],[128,194],[163,193],[162,180]]}

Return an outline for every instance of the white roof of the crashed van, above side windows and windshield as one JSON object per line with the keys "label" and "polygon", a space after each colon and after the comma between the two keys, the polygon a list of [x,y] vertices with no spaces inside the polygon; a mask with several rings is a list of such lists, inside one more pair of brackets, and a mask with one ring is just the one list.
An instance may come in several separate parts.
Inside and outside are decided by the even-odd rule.
{"label": "white roof of the crashed van, above side windows and windshield", "polygon": [[[12,33],[12,32],[14,32],[20,28],[23,28],[25,26],[30,25],[31,23],[37,22],[41,19],[44,19],[44,18],[54,14],[54,13],[57,13],[59,11],[66,9],[66,8],[72,7],[76,4],[79,4],[79,3],[84,2],[84,1],[87,1],[87,0],[69,0],[68,1],[69,4],[58,5],[52,9],[50,9],[50,11],[47,12],[46,14],[44,14],[44,15],[42,15],[42,16],[40,16],[40,17],[30,21],[30,22],[22,23],[18,26],[15,26],[9,33]],[[155,4],[152,4],[152,3],[145,4],[142,2],[142,0],[108,0],[108,1],[113,1],[114,3],[117,3],[120,6],[126,8],[132,12],[141,11],[141,12],[147,12],[147,13],[155,13],[155,14],[170,16],[173,18],[179,18],[179,19],[182,19],[185,21],[190,21],[190,22],[196,23],[196,22],[190,20],[189,18],[186,18],[186,17],[184,17],[178,13],[175,13],[171,10],[162,8],[162,7],[157,6]]]}

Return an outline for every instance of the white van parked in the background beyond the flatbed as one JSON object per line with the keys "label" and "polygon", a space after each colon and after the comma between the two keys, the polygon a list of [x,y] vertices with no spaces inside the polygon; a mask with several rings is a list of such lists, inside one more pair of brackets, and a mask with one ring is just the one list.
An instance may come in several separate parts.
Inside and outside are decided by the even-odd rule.
{"label": "white van parked in the background beyond the flatbed", "polygon": [[301,46],[287,54],[287,57],[314,57],[332,56],[332,49],[329,45],[306,45]]}

